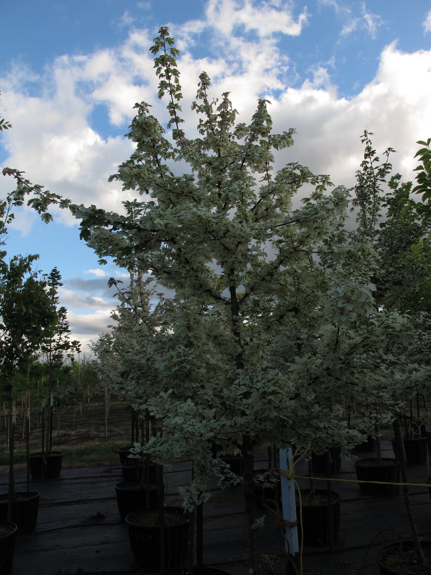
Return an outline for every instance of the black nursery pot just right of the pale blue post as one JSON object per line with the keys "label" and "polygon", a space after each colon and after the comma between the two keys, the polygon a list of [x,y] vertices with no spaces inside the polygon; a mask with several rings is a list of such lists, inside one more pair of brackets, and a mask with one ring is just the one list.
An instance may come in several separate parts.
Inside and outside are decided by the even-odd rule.
{"label": "black nursery pot just right of the pale blue post", "polygon": [[[299,522],[299,501],[297,499],[298,538],[303,536],[304,545],[317,547],[329,544],[329,519],[328,519],[328,491],[326,489],[314,489],[314,502],[307,501],[310,489],[301,489],[302,497],[302,531]],[[341,496],[335,491],[331,492],[332,504],[332,534],[333,540],[338,537],[340,528]]]}

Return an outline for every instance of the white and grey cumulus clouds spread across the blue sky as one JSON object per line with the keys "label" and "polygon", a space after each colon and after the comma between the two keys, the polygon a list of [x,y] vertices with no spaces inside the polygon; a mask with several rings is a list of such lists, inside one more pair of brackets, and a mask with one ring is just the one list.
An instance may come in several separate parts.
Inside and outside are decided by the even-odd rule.
{"label": "white and grey cumulus clouds spread across the blue sky", "polygon": [[[338,10],[347,26],[345,34],[351,26],[351,32],[363,29],[372,36],[382,25],[382,19],[365,4],[353,14],[335,0],[320,3]],[[211,96],[230,91],[240,114],[238,121],[248,123],[256,100],[264,97],[272,102],[275,131],[297,129],[294,147],[276,155],[276,167],[298,160],[315,173],[329,173],[336,185],[351,186],[363,152],[359,136],[366,128],[375,133],[373,143],[380,154],[388,146],[398,151],[391,158],[394,169],[413,178],[415,142],[430,136],[426,127],[431,125],[431,50],[405,53],[395,44],[388,45],[380,55],[375,78],[354,97],[338,98],[328,72],[331,63],[317,63],[311,68],[313,79],[298,85],[292,81],[288,55],[278,48],[279,34],[301,33],[308,19],[306,11],[294,14],[291,3],[276,0],[264,3],[264,7],[261,4],[259,10],[251,0],[209,0],[202,20],[178,29],[172,25],[171,32],[182,50],[178,66],[187,134],[196,134],[197,117],[189,103],[195,98],[199,73],[206,70],[213,82]],[[431,12],[426,22],[425,30],[429,31]],[[203,30],[213,49],[212,57],[195,57],[191,51]],[[76,203],[122,210],[121,201],[137,193],[124,193],[120,183],[108,184],[107,178],[129,158],[134,146],[122,136],[103,137],[93,127],[91,117],[102,104],[113,133],[118,129],[125,132],[134,102],[144,100],[153,106],[155,116],[167,121],[166,101],[156,97],[158,80],[148,52],[153,36],[148,30],[133,29],[116,48],[61,56],[40,76],[15,66],[1,78],[2,113],[13,121],[13,130],[2,135],[9,154],[7,164],[25,170],[31,181]],[[29,92],[29,78],[37,85],[37,92]],[[175,169],[180,166],[176,164]],[[2,178],[0,197],[6,184]],[[67,224],[76,223],[66,210],[60,217]],[[26,220],[22,227],[29,225]],[[109,310],[116,300],[102,269],[86,271],[96,277],[65,281],[63,297],[74,308],[71,317],[82,337],[91,331],[97,338],[110,323]],[[82,309],[92,313],[76,311]]]}

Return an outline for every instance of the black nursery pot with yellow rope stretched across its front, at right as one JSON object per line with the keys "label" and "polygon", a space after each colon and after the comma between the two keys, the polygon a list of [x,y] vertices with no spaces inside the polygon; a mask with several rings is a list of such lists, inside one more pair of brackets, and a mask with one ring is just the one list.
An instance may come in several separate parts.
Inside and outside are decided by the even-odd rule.
{"label": "black nursery pot with yellow rope stretched across its front, at right", "polygon": [[375,483],[360,483],[360,492],[370,497],[392,497],[398,493],[400,470],[398,462],[389,457],[382,457],[382,465],[376,458],[359,459],[355,461],[356,477],[359,481],[383,481],[386,485]]}

